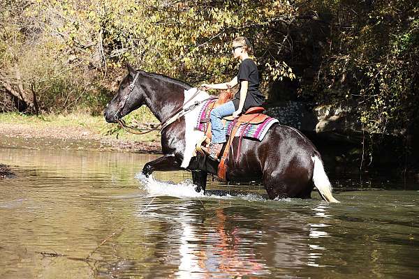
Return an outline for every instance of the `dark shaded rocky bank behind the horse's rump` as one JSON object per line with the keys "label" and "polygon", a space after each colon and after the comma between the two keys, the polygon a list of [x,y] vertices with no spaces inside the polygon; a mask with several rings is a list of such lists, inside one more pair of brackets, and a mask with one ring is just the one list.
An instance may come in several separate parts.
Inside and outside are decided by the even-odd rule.
{"label": "dark shaded rocky bank behind the horse's rump", "polygon": [[417,179],[419,141],[415,139],[419,135],[368,133],[353,107],[355,104],[314,106],[288,100],[267,105],[267,114],[309,137],[330,172],[374,172]]}

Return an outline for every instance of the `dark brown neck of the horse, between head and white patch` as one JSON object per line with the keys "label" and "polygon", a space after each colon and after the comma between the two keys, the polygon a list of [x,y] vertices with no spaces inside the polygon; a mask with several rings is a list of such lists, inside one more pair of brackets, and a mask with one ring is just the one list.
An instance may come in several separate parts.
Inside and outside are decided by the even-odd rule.
{"label": "dark brown neck of the horse, between head and white patch", "polygon": [[145,102],[154,116],[163,122],[183,106],[186,88],[179,84],[151,85],[148,90],[145,89],[147,94]]}

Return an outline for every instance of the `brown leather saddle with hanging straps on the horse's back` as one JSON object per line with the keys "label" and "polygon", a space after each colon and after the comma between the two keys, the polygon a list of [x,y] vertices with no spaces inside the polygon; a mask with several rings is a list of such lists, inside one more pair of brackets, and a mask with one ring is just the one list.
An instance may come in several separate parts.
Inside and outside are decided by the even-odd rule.
{"label": "brown leather saddle with hanging straps on the horse's back", "polygon": [[[221,94],[223,94],[223,92],[221,92]],[[232,94],[228,92],[228,90],[227,90],[227,93],[224,95],[229,94],[228,97],[230,98],[226,98],[226,96],[224,95],[221,96],[221,94],[220,94],[221,98],[219,97],[219,100],[210,104],[209,110],[213,110],[215,107],[218,107],[219,105],[222,105],[223,103],[226,103],[232,97]],[[220,158],[220,163],[218,167],[219,179],[226,180],[228,156],[230,153],[230,149],[233,149],[232,142],[237,134],[237,130],[239,130],[240,126],[242,125],[245,126],[244,129],[242,129],[242,131],[244,131],[245,128],[247,128],[247,126],[250,124],[263,123],[266,119],[269,118],[269,116],[262,114],[264,111],[265,109],[263,107],[251,107],[249,108],[249,110],[247,110],[247,112],[239,116],[237,119],[233,118],[233,116],[227,116],[223,118],[224,125],[226,124],[226,121],[233,121],[233,129],[231,130],[230,137],[228,137],[228,141],[226,142],[226,145],[224,146],[224,151]],[[212,134],[211,134],[210,119],[203,119],[201,122],[209,122],[207,125],[207,129],[205,130],[205,136],[203,137],[202,140],[200,140],[196,144],[196,151],[204,155],[205,151],[203,150],[203,146],[207,146],[208,144],[210,144]],[[237,145],[236,162],[238,162],[239,157],[240,157],[240,149],[242,146],[243,134],[241,133],[240,135],[238,135],[238,137],[239,137],[239,142]]]}

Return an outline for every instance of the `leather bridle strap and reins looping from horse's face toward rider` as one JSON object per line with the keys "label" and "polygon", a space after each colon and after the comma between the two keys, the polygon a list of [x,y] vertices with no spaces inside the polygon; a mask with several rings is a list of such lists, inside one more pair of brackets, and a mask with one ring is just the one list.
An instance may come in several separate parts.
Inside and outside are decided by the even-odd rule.
{"label": "leather bridle strap and reins looping from horse's face toward rider", "polygon": [[196,92],[193,94],[193,96],[191,98],[189,98],[189,100],[187,100],[184,105],[182,105],[182,107],[179,107],[179,109],[177,109],[175,112],[173,112],[172,114],[170,114],[170,116],[165,120],[162,121],[161,123],[159,123],[159,125],[155,126],[154,128],[151,128],[149,130],[143,130],[143,129],[139,129],[133,126],[128,126],[126,125],[126,123],[119,118],[122,109],[125,106],[126,100],[128,100],[130,94],[132,93],[133,89],[135,88],[135,82],[137,82],[138,80],[138,76],[140,75],[140,72],[137,72],[137,74],[134,77],[133,82],[131,82],[131,84],[129,84],[129,91],[126,94],[126,96],[124,96],[124,98],[122,98],[121,102],[119,102],[118,105],[118,110],[115,113],[114,119],[115,121],[117,121],[117,123],[128,133],[131,134],[135,134],[135,135],[144,135],[147,133],[150,133],[154,130],[157,130],[160,128],[160,131],[163,130],[164,128],[166,128],[167,126],[169,126],[171,123],[177,121],[178,119],[180,119],[180,117],[184,116],[186,113],[190,112],[191,110],[193,110],[195,107],[197,107],[198,105],[200,105],[201,103],[204,103],[206,100],[209,100],[210,98],[214,98],[214,96],[210,96],[209,98],[206,98],[205,100],[202,101],[195,101],[192,105],[190,105],[189,107],[185,107],[185,105],[187,103],[189,103],[189,101],[191,101],[193,98],[195,98],[196,96],[198,96],[198,93],[200,92],[198,89],[196,89]]}

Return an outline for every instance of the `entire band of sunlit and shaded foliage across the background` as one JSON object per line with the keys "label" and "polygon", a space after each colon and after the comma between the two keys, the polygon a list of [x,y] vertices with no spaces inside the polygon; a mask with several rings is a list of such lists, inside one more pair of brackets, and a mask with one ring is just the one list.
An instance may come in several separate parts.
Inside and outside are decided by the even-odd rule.
{"label": "entire band of sunlit and shaded foliage across the background", "polygon": [[418,122],[416,2],[0,0],[0,80],[34,89],[43,111],[100,114],[126,62],[193,85],[229,80],[242,35],[263,91],[301,81],[319,104],[357,103],[369,132],[399,133]]}

